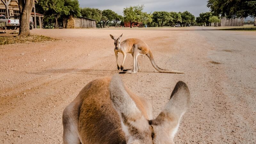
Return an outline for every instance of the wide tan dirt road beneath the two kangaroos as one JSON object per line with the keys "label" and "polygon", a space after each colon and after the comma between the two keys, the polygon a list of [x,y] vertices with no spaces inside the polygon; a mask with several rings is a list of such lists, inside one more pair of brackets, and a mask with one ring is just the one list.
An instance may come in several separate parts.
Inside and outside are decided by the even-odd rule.
{"label": "wide tan dirt road beneath the two kangaroos", "polygon": [[[121,75],[151,101],[154,116],[175,84],[188,84],[192,102],[176,143],[256,141],[256,32],[215,28],[43,29],[56,42],[0,46],[0,143],[62,143],[62,112],[91,80],[118,73],[109,34],[143,39],[160,68],[147,57],[141,71]],[[119,58],[120,63],[122,57]],[[132,67],[128,55],[124,68]]]}

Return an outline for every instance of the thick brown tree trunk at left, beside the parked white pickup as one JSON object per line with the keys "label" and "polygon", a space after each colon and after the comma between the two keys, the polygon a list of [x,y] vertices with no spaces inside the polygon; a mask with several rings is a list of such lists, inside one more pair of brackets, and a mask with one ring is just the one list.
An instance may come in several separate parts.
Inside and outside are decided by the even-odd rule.
{"label": "thick brown tree trunk at left, beside the parked white pickup", "polygon": [[[29,36],[29,18],[35,0],[18,0],[20,8],[20,31],[19,36]],[[36,22],[36,21],[35,21]]]}

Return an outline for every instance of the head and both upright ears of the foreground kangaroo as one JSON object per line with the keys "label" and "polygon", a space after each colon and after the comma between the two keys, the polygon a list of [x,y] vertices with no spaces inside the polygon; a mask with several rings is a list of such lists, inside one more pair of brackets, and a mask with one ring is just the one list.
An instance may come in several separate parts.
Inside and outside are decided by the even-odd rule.
{"label": "head and both upright ears of the foreground kangaroo", "polygon": [[190,103],[190,92],[178,82],[169,102],[153,120],[147,120],[126,92],[122,79],[114,75],[109,85],[113,107],[119,114],[127,144],[170,144],[178,131],[180,119]]}

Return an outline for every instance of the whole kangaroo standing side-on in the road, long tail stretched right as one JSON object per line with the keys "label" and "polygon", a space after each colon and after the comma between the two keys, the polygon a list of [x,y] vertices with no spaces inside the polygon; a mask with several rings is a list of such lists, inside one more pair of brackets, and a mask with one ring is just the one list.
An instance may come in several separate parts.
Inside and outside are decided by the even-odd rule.
{"label": "whole kangaroo standing side-on in the road, long tail stretched right", "polygon": [[[153,54],[151,50],[148,47],[148,44],[146,44],[144,41],[138,39],[138,38],[128,38],[124,40],[123,42],[120,43],[121,38],[123,34],[119,36],[117,39],[110,35],[110,37],[114,40],[114,45],[115,45],[115,55],[116,55],[116,63],[117,63],[117,69],[118,70],[123,70],[123,72],[120,72],[120,74],[134,74],[137,73],[137,71],[140,71],[140,66],[138,64],[137,58],[138,56],[145,56],[147,55],[151,64],[153,67],[161,73],[177,73],[177,74],[183,74],[184,72],[181,71],[176,71],[176,70],[169,70],[169,69],[162,69],[159,68],[156,65],[156,62],[154,60]],[[121,52],[124,57],[123,57],[123,62],[121,64],[121,68],[118,65],[118,52]],[[133,68],[132,69],[125,69],[124,70],[124,60],[126,58],[126,53],[131,53],[133,57]]]}

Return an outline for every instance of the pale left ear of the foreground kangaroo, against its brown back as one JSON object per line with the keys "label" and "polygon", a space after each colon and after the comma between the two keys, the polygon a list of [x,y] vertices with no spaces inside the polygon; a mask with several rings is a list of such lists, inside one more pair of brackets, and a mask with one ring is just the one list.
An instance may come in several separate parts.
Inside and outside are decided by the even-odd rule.
{"label": "pale left ear of the foreground kangaroo, against its brown back", "polygon": [[110,98],[114,108],[122,117],[136,117],[141,115],[140,110],[137,108],[135,102],[125,90],[124,83],[121,76],[115,74],[109,85]]}

